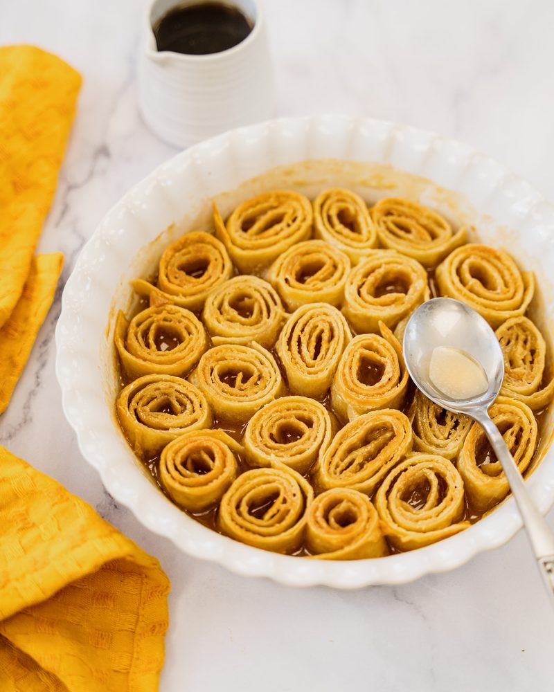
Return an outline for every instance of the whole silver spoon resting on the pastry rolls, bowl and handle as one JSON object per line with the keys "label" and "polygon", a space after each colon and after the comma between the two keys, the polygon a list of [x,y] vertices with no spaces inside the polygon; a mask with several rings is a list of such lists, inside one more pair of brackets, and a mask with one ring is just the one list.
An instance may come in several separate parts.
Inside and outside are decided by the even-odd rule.
{"label": "whole silver spoon resting on the pastry rolls, bowl and handle", "polygon": [[[473,399],[452,399],[438,390],[429,378],[431,354],[438,346],[460,349],[480,363],[488,378],[485,392]],[[466,304],[452,298],[433,298],[420,305],[409,319],[403,350],[411,379],[426,397],[442,408],[470,416],[485,431],[508,479],[539,571],[554,603],[554,534],[533,504],[499,429],[488,415],[504,376],[504,358],[494,331]]]}

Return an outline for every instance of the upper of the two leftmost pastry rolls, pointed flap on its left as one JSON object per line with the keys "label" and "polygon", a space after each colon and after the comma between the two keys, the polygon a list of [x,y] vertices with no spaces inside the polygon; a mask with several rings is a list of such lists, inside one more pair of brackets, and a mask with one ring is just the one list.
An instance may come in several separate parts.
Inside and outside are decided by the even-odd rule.
{"label": "upper of the two leftmost pastry rolls, pointed flap on its left", "polygon": [[207,347],[202,322],[177,305],[148,307],[130,322],[119,311],[114,340],[129,379],[154,373],[186,375]]}

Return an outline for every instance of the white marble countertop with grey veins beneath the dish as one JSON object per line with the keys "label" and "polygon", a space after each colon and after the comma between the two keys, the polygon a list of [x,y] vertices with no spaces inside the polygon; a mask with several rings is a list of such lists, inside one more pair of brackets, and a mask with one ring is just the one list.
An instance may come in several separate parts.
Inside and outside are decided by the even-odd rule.
{"label": "white marble countertop with grey veins beneath the dish", "polygon": [[[0,44],[53,51],[84,77],[40,250],[66,280],[127,188],[175,154],[143,125],[139,0],[0,0]],[[554,5],[547,0],[267,0],[277,114],[354,113],[476,145],[554,199]],[[0,135],[1,136],[1,135]],[[0,442],[91,502],[172,581],[162,692],[552,689],[553,613],[526,538],[396,588],[294,590],[179,554],[105,492],[55,381],[60,290],[0,420]],[[554,513],[549,516],[554,527]]]}

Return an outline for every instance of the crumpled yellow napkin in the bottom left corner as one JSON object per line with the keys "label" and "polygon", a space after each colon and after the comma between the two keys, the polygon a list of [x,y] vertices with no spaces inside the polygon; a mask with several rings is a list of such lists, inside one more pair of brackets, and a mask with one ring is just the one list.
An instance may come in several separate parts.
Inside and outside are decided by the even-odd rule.
{"label": "crumpled yellow napkin in the bottom left corner", "polygon": [[3,447],[0,469],[0,690],[157,690],[157,560]]}

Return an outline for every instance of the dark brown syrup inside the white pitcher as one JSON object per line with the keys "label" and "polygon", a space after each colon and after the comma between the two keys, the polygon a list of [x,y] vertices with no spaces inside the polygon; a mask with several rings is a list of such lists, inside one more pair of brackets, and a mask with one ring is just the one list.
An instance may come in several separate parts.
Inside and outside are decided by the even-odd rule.
{"label": "dark brown syrup inside the white pitcher", "polygon": [[252,28],[235,6],[206,2],[172,8],[154,26],[154,37],[159,51],[208,55],[240,44]]}

